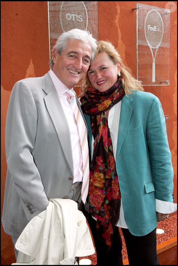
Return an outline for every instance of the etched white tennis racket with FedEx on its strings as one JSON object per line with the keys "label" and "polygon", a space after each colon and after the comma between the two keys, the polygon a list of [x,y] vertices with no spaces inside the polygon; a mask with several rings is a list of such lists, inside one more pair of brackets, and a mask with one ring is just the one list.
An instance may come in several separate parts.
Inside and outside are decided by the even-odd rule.
{"label": "etched white tennis racket with FedEx on its strings", "polygon": [[[157,10],[150,10],[145,18],[145,37],[148,46],[151,50],[153,67],[152,67],[152,82],[155,82],[155,58],[157,50],[162,42],[163,38],[163,20],[160,13]],[[153,55],[153,50],[155,51]]]}

